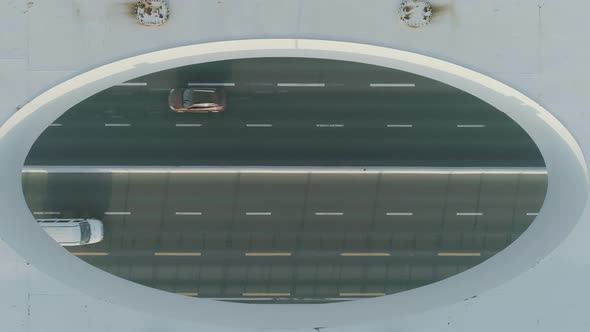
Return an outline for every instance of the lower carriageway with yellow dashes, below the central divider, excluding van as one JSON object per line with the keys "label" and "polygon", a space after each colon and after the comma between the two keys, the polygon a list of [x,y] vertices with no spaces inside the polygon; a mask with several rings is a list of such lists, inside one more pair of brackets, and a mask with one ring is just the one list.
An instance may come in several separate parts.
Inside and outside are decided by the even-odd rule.
{"label": "lower carriageway with yellow dashes, below the central divider, excluding van", "polygon": [[464,271],[534,220],[546,174],[24,173],[36,218],[96,217],[68,248],[150,287],[253,303],[392,294]]}

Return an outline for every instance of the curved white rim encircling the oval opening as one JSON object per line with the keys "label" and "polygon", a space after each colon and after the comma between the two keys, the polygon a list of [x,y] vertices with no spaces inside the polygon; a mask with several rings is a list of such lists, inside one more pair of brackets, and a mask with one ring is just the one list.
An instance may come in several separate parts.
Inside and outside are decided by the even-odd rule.
{"label": "curved white rim encircling the oval opening", "polygon": [[[36,225],[22,194],[27,153],[62,113],[115,84],[174,67],[239,58],[309,57],[355,61],[432,78],[507,113],[535,140],[549,176],[533,225],[507,249],[466,272],[415,290],[327,305],[245,305],[147,288],[100,271],[67,253]],[[461,301],[532,268],[569,234],[588,197],[586,162],[572,135],[516,90],[448,62],[383,47],[305,39],[261,39],[177,47],[117,61],[76,76],[33,99],[0,127],[0,237],[40,271],[94,298],[186,322],[240,328],[342,326],[392,319]],[[228,319],[231,315],[231,319]]]}

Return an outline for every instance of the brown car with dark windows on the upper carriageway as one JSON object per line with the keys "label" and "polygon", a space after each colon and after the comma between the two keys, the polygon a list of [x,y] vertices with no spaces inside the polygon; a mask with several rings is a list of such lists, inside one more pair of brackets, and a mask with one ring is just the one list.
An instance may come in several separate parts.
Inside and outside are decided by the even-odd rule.
{"label": "brown car with dark windows on the upper carriageway", "polygon": [[225,110],[225,90],[178,88],[168,94],[170,109],[178,113],[216,113]]}

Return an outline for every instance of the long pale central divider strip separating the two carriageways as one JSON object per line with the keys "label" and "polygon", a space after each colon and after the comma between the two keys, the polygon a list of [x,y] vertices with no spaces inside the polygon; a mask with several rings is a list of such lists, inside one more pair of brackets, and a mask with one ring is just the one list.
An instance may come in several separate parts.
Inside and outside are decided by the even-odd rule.
{"label": "long pale central divider strip separating the two carriageways", "polygon": [[23,173],[142,174],[530,174],[547,175],[541,167],[270,167],[270,166],[25,166]]}

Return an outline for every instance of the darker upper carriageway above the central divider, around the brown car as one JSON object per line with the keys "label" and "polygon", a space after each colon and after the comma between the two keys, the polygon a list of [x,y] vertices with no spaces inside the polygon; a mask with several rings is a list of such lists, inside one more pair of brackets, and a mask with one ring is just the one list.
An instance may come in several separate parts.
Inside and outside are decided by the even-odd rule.
{"label": "darker upper carriageway above the central divider, around the brown car", "polygon": [[[175,114],[171,88],[224,85],[227,110]],[[251,59],[141,77],[68,110],[27,165],[544,167],[508,116],[416,75]]]}

